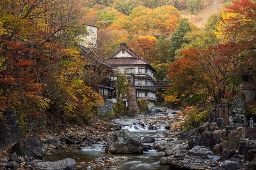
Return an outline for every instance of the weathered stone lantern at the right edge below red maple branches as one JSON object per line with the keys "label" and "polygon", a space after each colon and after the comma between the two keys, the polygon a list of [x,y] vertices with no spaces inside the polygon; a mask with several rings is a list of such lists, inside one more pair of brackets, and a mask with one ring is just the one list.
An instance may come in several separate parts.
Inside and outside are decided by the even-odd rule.
{"label": "weathered stone lantern at the right edge below red maple branches", "polygon": [[245,101],[256,101],[256,84],[254,76],[256,73],[253,70],[246,70],[242,74],[242,83],[240,84],[241,92],[244,93]]}

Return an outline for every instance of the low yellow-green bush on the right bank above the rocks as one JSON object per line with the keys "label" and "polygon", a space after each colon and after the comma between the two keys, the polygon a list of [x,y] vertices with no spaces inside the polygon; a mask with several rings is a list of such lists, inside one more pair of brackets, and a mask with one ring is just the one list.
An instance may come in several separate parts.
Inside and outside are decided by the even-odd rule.
{"label": "low yellow-green bush on the right bank above the rocks", "polygon": [[184,119],[183,131],[191,128],[198,128],[204,123],[208,122],[211,109],[212,107],[208,106],[203,111],[197,108],[192,109],[192,111],[187,111]]}

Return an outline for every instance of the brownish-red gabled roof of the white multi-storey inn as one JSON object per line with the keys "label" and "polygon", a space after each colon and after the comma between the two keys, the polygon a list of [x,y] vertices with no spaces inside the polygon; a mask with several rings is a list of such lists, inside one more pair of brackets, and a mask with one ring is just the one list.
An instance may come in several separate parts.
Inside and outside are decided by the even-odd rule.
{"label": "brownish-red gabled roof of the white multi-storey inn", "polygon": [[[117,56],[120,51],[125,50],[130,57]],[[127,47],[126,43],[122,42],[120,47],[111,55],[108,56],[107,63],[110,65],[147,65],[152,71],[157,72],[149,61],[138,56],[134,51]]]}

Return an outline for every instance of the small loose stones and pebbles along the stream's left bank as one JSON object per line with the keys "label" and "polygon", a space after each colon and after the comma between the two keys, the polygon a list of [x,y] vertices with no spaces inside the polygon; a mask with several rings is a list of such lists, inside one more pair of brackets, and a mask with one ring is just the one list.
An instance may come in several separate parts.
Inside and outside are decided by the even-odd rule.
{"label": "small loose stones and pebbles along the stream's left bank", "polygon": [[[166,129],[170,129],[173,122],[178,121],[181,118],[178,118],[176,116],[166,116],[166,113],[158,113],[154,115],[139,115],[138,117],[134,118],[122,118],[122,119],[131,119],[133,122],[144,122],[148,123],[150,125],[148,128],[155,128],[160,127],[161,125],[164,125]],[[60,152],[68,153],[72,150],[82,150],[83,148],[91,147],[92,144],[96,142],[102,143],[102,145],[106,144],[108,140],[111,138],[112,134],[116,130],[121,129],[121,120],[118,119],[115,121],[101,121],[101,120],[95,120],[93,124],[80,127],[78,125],[69,125],[66,126],[66,132],[65,134],[41,134],[40,138],[43,143],[43,150],[44,150],[44,157],[54,157],[58,155]],[[136,121],[135,121],[136,120]],[[150,120],[150,121],[148,121]],[[116,121],[120,121],[119,123]],[[177,134],[172,133],[170,130],[170,133],[166,134],[166,138],[170,135],[170,138],[173,139]],[[65,136],[65,137],[64,137]],[[66,141],[65,141],[66,138]],[[71,140],[73,143],[68,143],[67,140]],[[49,141],[54,141],[50,143]],[[59,147],[59,144],[61,144],[61,147]],[[16,162],[12,161],[14,164],[14,168],[10,168],[12,166],[9,166],[10,169],[17,169],[17,170],[27,170],[32,169],[33,164],[36,164],[37,162],[40,162],[40,159],[32,158],[30,157],[25,158],[21,156],[16,156],[15,154],[10,154],[10,150],[6,150],[2,154],[1,162],[10,160],[11,157],[18,157],[20,158],[20,161]],[[91,158],[92,159],[92,158]],[[89,161],[76,161],[76,167],[77,169],[86,169],[88,167],[97,169],[97,168],[104,168],[109,167],[111,164],[114,164],[120,160],[124,159],[132,159],[132,157],[126,157],[126,156],[112,156],[110,154],[106,154],[104,156],[101,156],[99,158],[93,158],[93,160]],[[3,164],[2,166],[4,166]]]}

